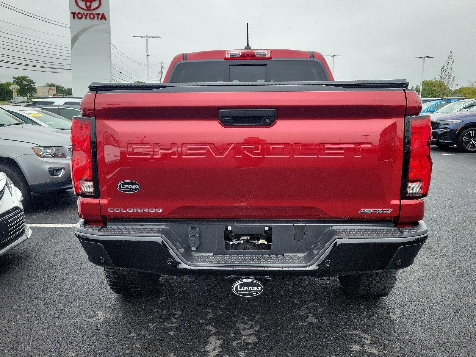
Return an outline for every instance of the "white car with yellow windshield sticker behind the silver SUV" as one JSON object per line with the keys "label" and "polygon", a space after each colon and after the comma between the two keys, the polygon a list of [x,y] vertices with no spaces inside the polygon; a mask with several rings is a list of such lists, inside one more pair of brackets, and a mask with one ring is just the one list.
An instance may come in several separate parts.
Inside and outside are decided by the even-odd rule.
{"label": "white car with yellow windshield sticker behind the silver SUV", "polygon": [[2,105],[0,107],[27,124],[61,130],[71,130],[71,121],[46,110],[36,108],[32,109],[30,107],[11,107],[10,105]]}

